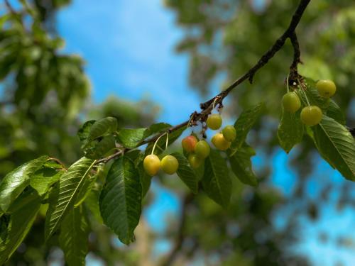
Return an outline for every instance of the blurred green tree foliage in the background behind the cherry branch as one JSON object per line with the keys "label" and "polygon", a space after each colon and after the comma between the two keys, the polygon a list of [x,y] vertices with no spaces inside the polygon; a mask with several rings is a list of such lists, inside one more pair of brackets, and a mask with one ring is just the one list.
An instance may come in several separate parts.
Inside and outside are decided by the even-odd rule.
{"label": "blurred green tree foliage in the background behind the cherry branch", "polygon": [[[298,2],[165,1],[165,7],[175,13],[177,26],[183,30],[176,50],[190,58],[192,87],[209,99],[216,87],[225,89],[249,70],[288,27]],[[148,100],[137,104],[115,96],[100,105],[92,103],[84,59],[62,52],[64,40],[56,31],[56,13],[67,4],[69,0],[1,3],[0,179],[41,155],[60,158],[65,165],[78,160],[83,153],[77,131],[84,121],[111,116],[116,118],[118,128],[143,128],[156,120],[158,108]],[[351,45],[355,41],[354,25],[355,4],[323,0],[311,2],[297,27],[303,62],[299,65],[300,74],[315,80],[334,80],[334,100],[346,113],[349,127],[355,126],[355,48]],[[285,94],[283,82],[292,61],[293,47],[287,41],[256,73],[253,84],[241,84],[224,102],[226,118],[265,102],[261,118],[247,139],[258,156],[257,188],[233,178],[231,204],[222,209],[207,194],[192,196],[178,179],[160,174],[154,177],[155,182],[180,196],[180,218],[168,221],[168,229],[156,233],[148,230],[143,216],[135,231],[136,242],[126,247],[117,244],[114,234],[102,225],[97,199],[109,170],[104,167],[95,176],[97,182],[84,204],[70,216],[83,225],[80,232],[89,235],[88,241],[77,236],[76,245],[81,248],[75,253],[85,255],[89,251],[91,257],[107,265],[188,265],[201,261],[205,265],[310,265],[305,255],[297,253],[300,229],[307,226],[305,217],[316,220],[327,204],[335,203],[339,209],[354,206],[355,184],[345,179],[334,181],[328,173],[317,171],[324,162],[312,140],[304,138],[288,157],[290,169],[297,173],[294,184],[289,185],[290,192],[281,194],[275,188],[273,167],[279,163],[275,157],[282,153],[277,138],[280,99]],[[172,152],[180,150],[178,143],[170,147]],[[253,155],[249,151],[249,157]],[[229,170],[232,177],[234,172]],[[28,201],[36,200],[31,189],[25,190],[23,196]],[[153,188],[143,199],[143,209],[151,205],[154,196]],[[45,200],[50,204],[52,199]],[[14,227],[25,210],[16,209],[16,205],[12,208],[18,215],[11,220]],[[67,248],[65,237],[55,234],[45,245],[43,228],[48,204],[26,211],[38,211],[33,228],[6,265],[64,263],[58,247]],[[75,220],[77,217],[86,218]],[[7,215],[0,217],[0,244],[8,238],[9,219]],[[69,226],[70,222],[66,223]],[[321,238],[327,240],[327,232]],[[171,250],[153,254],[152,247],[161,239],[172,244]],[[354,240],[347,235],[337,239],[339,246],[354,249]],[[82,260],[67,263],[79,265]]]}

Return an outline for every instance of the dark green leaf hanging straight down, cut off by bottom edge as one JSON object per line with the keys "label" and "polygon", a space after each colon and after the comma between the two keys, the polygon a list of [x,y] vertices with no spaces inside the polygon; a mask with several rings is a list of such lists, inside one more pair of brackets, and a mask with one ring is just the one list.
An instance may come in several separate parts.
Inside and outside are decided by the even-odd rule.
{"label": "dark green leaf hanging straight down, cut off by bottom edge", "polygon": [[59,245],[69,266],[85,265],[89,223],[82,206],[72,209],[60,226]]}

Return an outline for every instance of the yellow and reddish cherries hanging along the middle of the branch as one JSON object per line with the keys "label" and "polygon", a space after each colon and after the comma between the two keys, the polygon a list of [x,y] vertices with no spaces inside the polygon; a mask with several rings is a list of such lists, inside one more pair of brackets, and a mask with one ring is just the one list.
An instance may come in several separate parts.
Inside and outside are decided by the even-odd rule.
{"label": "yellow and reddish cherries hanging along the middle of the branch", "polygon": [[[218,113],[211,114],[207,118],[206,124],[208,128],[217,130],[222,126],[222,117]],[[236,130],[234,126],[226,126],[221,133],[213,136],[212,143],[218,150],[227,150],[235,138]],[[194,169],[202,165],[210,152],[207,141],[198,140],[195,135],[189,135],[182,139],[181,145],[188,155],[187,160],[190,166]],[[150,176],[157,174],[160,168],[166,174],[174,174],[179,168],[179,162],[173,155],[166,155],[160,161],[159,157],[152,152],[151,155],[144,158],[143,167]]]}

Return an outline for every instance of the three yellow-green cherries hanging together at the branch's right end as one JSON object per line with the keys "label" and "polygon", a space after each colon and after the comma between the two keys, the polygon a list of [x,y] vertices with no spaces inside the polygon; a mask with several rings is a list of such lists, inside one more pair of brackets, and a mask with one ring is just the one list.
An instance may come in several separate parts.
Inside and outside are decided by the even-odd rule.
{"label": "three yellow-green cherries hanging together at the branch's right end", "polygon": [[[330,97],[332,97],[337,90],[337,87],[335,86],[334,82],[329,79],[321,79],[320,81],[318,81],[316,84],[316,88],[320,96],[322,96],[324,99],[329,99]],[[305,97],[307,99],[306,95]],[[316,105],[310,105],[308,103],[308,100],[307,104],[308,106],[305,106],[300,113],[300,119],[302,123],[307,126],[315,126],[320,123],[320,121],[322,121],[322,110]],[[301,101],[300,97],[297,95],[297,92],[288,92],[283,96],[283,108],[285,109],[285,111],[295,113],[296,111],[298,111],[298,109],[300,109],[300,107]]]}

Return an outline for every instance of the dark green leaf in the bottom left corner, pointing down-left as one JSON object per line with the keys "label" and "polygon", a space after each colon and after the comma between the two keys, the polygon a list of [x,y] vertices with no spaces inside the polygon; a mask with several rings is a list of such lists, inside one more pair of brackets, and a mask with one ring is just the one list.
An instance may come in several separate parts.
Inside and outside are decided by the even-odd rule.
{"label": "dark green leaf in the bottom left corner, pointing down-left", "polygon": [[[18,201],[24,201],[26,204]],[[40,201],[40,196],[33,189],[29,189],[14,201],[13,204],[21,207],[15,208],[16,211],[11,214],[6,239],[0,243],[0,265],[4,265],[30,231],[40,209]]]}

